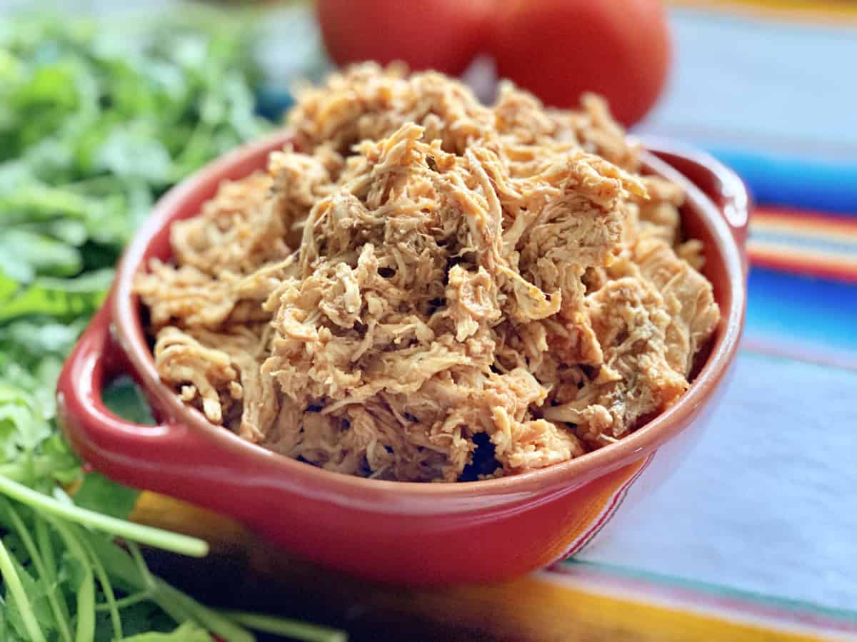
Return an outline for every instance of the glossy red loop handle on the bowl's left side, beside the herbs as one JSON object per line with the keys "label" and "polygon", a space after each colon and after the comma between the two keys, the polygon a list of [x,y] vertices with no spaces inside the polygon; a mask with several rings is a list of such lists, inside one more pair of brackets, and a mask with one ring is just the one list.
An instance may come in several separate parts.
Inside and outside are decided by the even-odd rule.
{"label": "glossy red loop handle on the bowl's left side, beside the herbs", "polygon": [[57,417],[78,455],[100,472],[132,486],[174,489],[182,471],[199,464],[199,454],[210,446],[206,448],[198,431],[169,417],[159,417],[157,425],[140,425],[105,407],[101,394],[105,384],[130,373],[125,354],[112,336],[112,296],[63,366],[57,383]]}

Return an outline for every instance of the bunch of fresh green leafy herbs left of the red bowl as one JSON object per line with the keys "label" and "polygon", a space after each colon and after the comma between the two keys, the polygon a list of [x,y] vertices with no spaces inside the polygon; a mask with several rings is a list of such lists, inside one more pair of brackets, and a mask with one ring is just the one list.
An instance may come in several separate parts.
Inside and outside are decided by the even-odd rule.
{"label": "bunch of fresh green leafy herbs left of the red bowl", "polygon": [[207,545],[127,521],[136,491],[85,473],[55,417],[63,359],[154,200],[267,126],[246,22],[0,21],[0,642],[343,639],[150,574],[137,543]]}

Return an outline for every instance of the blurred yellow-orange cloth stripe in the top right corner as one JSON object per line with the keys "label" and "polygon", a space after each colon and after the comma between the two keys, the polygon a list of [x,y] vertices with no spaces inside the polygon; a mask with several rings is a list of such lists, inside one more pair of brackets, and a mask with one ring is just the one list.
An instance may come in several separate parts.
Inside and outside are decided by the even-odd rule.
{"label": "blurred yellow-orange cloth stripe in the top right corner", "polygon": [[857,5],[836,0],[668,0],[674,7],[722,9],[787,21],[857,23]]}

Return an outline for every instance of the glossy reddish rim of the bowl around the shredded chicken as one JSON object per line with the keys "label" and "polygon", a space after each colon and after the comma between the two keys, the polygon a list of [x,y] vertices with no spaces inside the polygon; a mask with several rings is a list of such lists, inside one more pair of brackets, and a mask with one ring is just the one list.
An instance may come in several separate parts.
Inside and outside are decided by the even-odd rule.
{"label": "glossy reddish rim of the bowl around the shredded chicken", "polygon": [[[253,169],[262,169],[264,161],[254,163],[255,159],[267,158],[269,152],[281,148],[291,140],[293,140],[293,134],[288,129],[268,134],[260,140],[227,152],[165,193],[154,205],[146,223],[138,230],[123,254],[117,268],[115,295],[112,297],[115,336],[129,360],[131,371],[147,396],[158,401],[159,410],[165,413],[171,423],[180,423],[192,430],[202,431],[208,439],[217,443],[220,449],[237,455],[241,460],[248,461],[263,457],[267,458],[269,460],[267,463],[270,464],[271,458],[274,458],[279,472],[284,477],[291,478],[291,482],[304,486],[305,489],[324,491],[323,494],[328,498],[359,496],[363,501],[370,498],[388,501],[391,492],[397,498],[411,497],[415,500],[420,498],[426,500],[441,497],[466,498],[487,494],[529,496],[548,489],[577,487],[641,459],[684,430],[690,423],[690,419],[709,400],[734,359],[746,308],[746,272],[743,251],[740,248],[740,241],[736,238],[736,235],[740,236],[742,233],[741,224],[746,224],[748,211],[746,187],[731,169],[704,152],[677,146],[665,140],[646,140],[646,147],[651,153],[644,153],[644,166],[657,174],[666,175],[680,182],[686,189],[688,203],[696,208],[698,217],[709,229],[715,244],[713,249],[720,255],[726,271],[724,287],[728,288],[730,305],[728,314],[721,319],[721,330],[708,360],[692,381],[690,388],[673,406],[668,407],[637,431],[602,449],[534,471],[499,479],[426,484],[368,479],[329,471],[264,449],[238,437],[223,426],[213,425],[199,410],[183,404],[178,396],[160,381],[142,328],[139,300],[133,292],[133,281],[138,270],[144,267],[143,259],[153,238],[159,235],[166,225],[171,224],[183,203],[188,199],[197,198],[201,192],[208,193],[208,187],[212,184],[216,186],[225,180],[225,175],[230,175],[230,172],[232,172],[232,178],[249,173],[236,174],[234,169],[239,166],[249,164]],[[654,156],[656,153],[682,157],[704,166],[716,181],[719,181],[718,189],[728,201],[727,205],[723,208],[715,205],[677,169],[656,158]],[[726,211],[726,207],[731,208],[730,211]],[[718,301],[718,303],[721,304],[722,309],[722,302]]]}

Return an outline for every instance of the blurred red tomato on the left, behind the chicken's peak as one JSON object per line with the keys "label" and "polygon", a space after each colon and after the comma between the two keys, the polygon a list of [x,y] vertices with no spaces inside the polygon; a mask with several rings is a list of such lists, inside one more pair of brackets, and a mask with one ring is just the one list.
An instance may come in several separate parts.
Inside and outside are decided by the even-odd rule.
{"label": "blurred red tomato on the left, behind the chicken's peak", "polygon": [[317,0],[327,52],[339,64],[404,60],[460,74],[486,44],[492,0]]}

